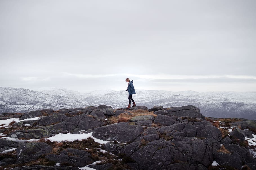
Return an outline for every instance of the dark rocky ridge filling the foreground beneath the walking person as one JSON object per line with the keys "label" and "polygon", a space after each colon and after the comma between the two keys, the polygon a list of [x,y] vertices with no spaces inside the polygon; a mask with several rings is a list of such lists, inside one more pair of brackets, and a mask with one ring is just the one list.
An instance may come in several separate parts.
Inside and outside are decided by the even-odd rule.
{"label": "dark rocky ridge filling the foreground beneath the walking person", "polygon": [[[2,169],[256,169],[256,121],[205,118],[191,105],[44,109],[0,121]],[[91,138],[50,140],[59,134]]]}

